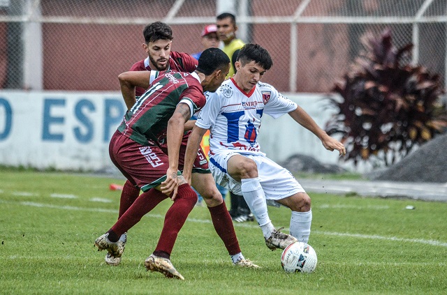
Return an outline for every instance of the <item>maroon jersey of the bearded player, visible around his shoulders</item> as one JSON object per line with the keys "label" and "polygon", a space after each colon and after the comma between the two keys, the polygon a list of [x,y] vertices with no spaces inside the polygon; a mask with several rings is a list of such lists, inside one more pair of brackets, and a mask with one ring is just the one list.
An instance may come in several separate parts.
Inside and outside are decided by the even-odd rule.
{"label": "maroon jersey of the bearded player, visible around his shoulders", "polygon": [[[193,73],[197,68],[197,63],[198,61],[187,53],[171,51],[169,54],[168,70]],[[130,70],[151,70],[151,67],[149,66],[149,56],[141,61],[133,63]],[[135,87],[135,96],[141,96],[145,91],[146,89],[144,88]]]}

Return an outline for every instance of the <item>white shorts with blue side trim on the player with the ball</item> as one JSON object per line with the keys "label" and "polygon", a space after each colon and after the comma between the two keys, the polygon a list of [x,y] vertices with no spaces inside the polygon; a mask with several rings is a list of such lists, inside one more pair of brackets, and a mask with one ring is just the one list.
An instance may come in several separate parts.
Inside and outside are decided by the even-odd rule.
{"label": "white shorts with blue side trim on the player with the ball", "polygon": [[272,201],[290,197],[297,192],[305,192],[291,172],[288,172],[286,168],[279,166],[263,154],[240,153],[232,150],[219,151],[219,153],[210,157],[209,166],[212,176],[217,183],[224,188],[228,188],[236,195],[242,195],[241,183],[240,181],[235,181],[227,173],[228,160],[235,155],[244,156],[256,162],[259,182],[269,205],[277,206],[277,203],[272,204]]}

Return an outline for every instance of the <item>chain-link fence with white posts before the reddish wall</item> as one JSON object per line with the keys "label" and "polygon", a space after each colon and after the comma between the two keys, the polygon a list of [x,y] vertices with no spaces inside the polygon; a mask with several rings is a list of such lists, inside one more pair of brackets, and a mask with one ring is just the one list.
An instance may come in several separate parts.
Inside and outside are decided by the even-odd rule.
{"label": "chain-link fence with white posts before the reddish wall", "polygon": [[173,50],[193,53],[225,9],[237,37],[269,50],[263,81],[280,91],[330,91],[360,37],[386,27],[397,47],[415,45],[411,62],[446,84],[446,0],[0,0],[0,88],[119,90],[117,75],[145,58],[146,24],[167,22]]}

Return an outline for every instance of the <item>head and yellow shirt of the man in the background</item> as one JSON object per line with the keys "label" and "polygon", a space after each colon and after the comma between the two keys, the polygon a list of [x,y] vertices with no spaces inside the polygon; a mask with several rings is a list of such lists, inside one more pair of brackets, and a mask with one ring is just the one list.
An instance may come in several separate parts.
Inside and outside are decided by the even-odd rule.
{"label": "head and yellow shirt of the man in the background", "polygon": [[237,53],[245,45],[244,41],[236,38],[236,17],[231,13],[221,13],[217,15],[217,36],[219,40],[223,42],[223,52],[228,55],[231,61],[230,73],[227,78],[235,75],[235,61],[237,59]]}

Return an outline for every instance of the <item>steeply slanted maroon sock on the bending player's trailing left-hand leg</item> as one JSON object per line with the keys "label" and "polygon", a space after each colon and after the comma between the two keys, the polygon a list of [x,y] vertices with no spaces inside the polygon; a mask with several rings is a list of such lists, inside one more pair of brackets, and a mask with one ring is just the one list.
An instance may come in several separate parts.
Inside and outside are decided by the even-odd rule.
{"label": "steeply slanted maroon sock on the bending player's trailing left-hand leg", "polygon": [[147,192],[143,192],[140,197],[135,199],[132,206],[119,218],[119,220],[112,226],[111,230],[121,236],[127,232],[133,225],[136,225],[141,218],[155,208],[163,199],[168,198],[159,190],[152,188]]}

